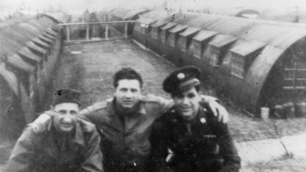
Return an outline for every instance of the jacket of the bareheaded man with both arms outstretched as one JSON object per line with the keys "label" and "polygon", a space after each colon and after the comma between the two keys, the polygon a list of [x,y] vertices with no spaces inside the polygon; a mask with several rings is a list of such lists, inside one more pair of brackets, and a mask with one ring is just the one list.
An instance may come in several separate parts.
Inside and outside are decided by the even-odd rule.
{"label": "jacket of the bareheaded man with both arms outstretched", "polygon": [[158,96],[145,96],[139,109],[124,119],[116,111],[115,99],[82,110],[81,117],[96,124],[100,132],[105,171],[145,170],[152,124],[171,102]]}

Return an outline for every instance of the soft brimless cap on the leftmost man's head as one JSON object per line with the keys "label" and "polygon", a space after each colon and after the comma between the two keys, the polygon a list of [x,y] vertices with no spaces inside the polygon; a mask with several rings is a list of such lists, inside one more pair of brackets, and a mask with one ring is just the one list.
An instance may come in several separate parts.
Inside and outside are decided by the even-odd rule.
{"label": "soft brimless cap on the leftmost man's head", "polygon": [[81,91],[69,88],[62,88],[57,90],[53,99],[53,105],[60,103],[77,103],[80,106],[80,93]]}

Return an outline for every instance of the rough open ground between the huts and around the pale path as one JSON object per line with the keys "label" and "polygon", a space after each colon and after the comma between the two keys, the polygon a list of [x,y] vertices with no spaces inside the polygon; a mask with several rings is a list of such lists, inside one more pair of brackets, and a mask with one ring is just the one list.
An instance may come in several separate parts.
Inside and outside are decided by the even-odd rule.
{"label": "rough open ground between the huts and around the pale path", "polygon": [[[61,88],[74,88],[82,91],[82,107],[111,98],[113,97],[112,76],[114,72],[128,66],[137,69],[142,74],[145,81],[143,95],[153,93],[170,98],[162,90],[161,83],[171,71],[176,69],[176,66],[149,51],[140,49],[130,39],[119,39],[66,45],[62,58],[58,62],[53,84],[54,89],[51,91],[50,100],[55,91]],[[203,87],[205,88],[204,85]],[[213,89],[203,89],[202,92],[203,94],[216,96]],[[268,119],[264,121],[249,117],[235,103],[222,96],[219,96],[219,98],[230,113],[229,128],[234,139],[238,142],[278,138],[282,135],[292,135],[306,131],[306,118]],[[286,164],[300,163],[305,164],[300,159],[277,159],[274,162],[255,164],[246,170],[265,171],[263,170],[265,166],[277,166],[286,169]],[[299,168],[296,169],[299,171]]]}

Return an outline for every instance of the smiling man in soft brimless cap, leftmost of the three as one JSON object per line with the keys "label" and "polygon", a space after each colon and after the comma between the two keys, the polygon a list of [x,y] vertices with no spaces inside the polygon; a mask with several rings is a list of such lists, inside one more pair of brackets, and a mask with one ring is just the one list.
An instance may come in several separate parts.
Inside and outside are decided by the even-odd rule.
{"label": "smiling man in soft brimless cap, leftmost of the three", "polygon": [[[50,129],[33,132],[32,122],[18,139],[8,161],[8,171],[103,171],[100,136],[95,126],[78,118],[80,92],[56,92]],[[47,126],[46,126],[47,127]]]}

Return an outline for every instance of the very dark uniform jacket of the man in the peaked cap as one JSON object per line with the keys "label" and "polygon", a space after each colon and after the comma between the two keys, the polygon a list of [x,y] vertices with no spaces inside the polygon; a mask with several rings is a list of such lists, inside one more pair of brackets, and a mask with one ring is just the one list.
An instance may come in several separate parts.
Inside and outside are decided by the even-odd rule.
{"label": "very dark uniform jacket of the man in the peaked cap", "polygon": [[226,123],[199,108],[185,121],[177,110],[166,112],[153,124],[151,134],[153,171],[239,171],[240,157]]}

